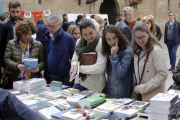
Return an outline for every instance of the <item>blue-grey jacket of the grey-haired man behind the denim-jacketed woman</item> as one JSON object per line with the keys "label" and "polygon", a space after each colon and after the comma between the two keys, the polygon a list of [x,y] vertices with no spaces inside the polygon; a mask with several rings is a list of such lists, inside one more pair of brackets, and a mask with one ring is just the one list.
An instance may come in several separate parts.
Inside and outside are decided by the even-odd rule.
{"label": "blue-grey jacket of the grey-haired man behind the denim-jacketed woman", "polygon": [[130,24],[126,20],[121,20],[117,28],[127,37],[128,41],[131,43],[132,31]]}

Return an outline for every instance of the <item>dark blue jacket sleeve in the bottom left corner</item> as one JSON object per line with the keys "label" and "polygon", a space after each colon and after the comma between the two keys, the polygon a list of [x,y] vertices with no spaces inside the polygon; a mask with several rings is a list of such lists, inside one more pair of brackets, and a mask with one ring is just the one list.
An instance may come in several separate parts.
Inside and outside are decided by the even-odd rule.
{"label": "dark blue jacket sleeve in the bottom left corner", "polygon": [[0,120],[44,120],[9,91],[0,88]]}

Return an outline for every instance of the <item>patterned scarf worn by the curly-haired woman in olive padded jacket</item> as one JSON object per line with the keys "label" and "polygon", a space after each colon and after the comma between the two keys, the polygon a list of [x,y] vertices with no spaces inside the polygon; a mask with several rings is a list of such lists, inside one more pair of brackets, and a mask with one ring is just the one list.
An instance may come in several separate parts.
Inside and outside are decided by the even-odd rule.
{"label": "patterned scarf worn by the curly-haired woman in olive padded jacket", "polygon": [[[24,41],[21,40],[21,39],[19,41],[19,45],[20,45],[21,50],[22,50],[22,64],[24,64],[24,58],[29,58],[30,57],[32,41],[33,41],[32,38],[28,41],[26,51],[24,50]],[[21,71],[21,73],[19,74],[19,78],[27,79],[28,78],[28,73],[29,73],[29,69]]]}

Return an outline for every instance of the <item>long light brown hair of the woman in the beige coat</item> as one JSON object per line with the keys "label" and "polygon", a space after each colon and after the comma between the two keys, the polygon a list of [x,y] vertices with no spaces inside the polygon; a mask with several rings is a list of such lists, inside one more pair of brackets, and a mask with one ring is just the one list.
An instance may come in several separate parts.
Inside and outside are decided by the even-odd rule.
{"label": "long light brown hair of the woman in the beige coat", "polygon": [[142,48],[136,43],[135,40],[135,32],[136,31],[142,31],[146,32],[148,35],[150,34],[148,41],[145,45],[145,48],[147,49],[147,54],[149,55],[150,52],[153,50],[154,45],[159,45],[161,48],[161,44],[158,42],[157,38],[150,32],[148,26],[144,22],[137,22],[133,28],[133,39],[132,39],[132,49],[134,55],[138,55],[139,52],[142,50]]}

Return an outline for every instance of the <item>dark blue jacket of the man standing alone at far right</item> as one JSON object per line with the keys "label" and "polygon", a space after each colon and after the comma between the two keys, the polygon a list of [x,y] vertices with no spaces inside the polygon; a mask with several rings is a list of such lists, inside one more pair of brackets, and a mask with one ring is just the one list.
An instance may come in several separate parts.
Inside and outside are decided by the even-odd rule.
{"label": "dark blue jacket of the man standing alone at far right", "polygon": [[[170,21],[165,24],[164,43],[167,43],[167,31]],[[180,22],[174,21],[173,40],[175,44],[180,44]]]}

